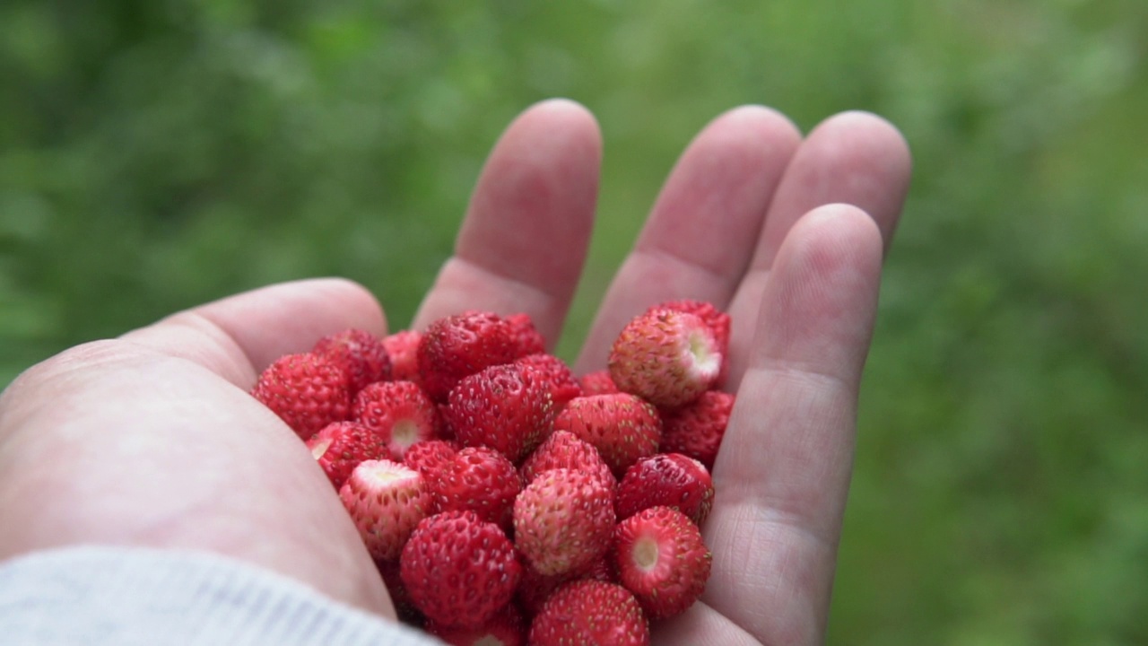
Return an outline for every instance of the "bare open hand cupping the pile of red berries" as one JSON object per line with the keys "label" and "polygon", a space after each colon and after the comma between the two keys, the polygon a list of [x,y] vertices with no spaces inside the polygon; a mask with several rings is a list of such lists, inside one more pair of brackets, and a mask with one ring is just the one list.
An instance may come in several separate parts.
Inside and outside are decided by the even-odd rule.
{"label": "bare open hand cupping the pile of red berries", "polygon": [[[466,308],[527,312],[557,339],[599,160],[582,108],[549,101],[519,117],[414,326]],[[900,136],[871,116],[840,115],[802,141],[765,108],[728,113],[685,152],[611,286],[579,372],[659,300],[711,300],[735,321],[713,575],[656,643],[822,639],[883,239],[908,166]],[[309,452],[247,393],[277,356],[351,326],[387,332],[362,287],[290,283],[33,367],[0,397],[0,559],[80,543],[208,549],[394,617]]]}

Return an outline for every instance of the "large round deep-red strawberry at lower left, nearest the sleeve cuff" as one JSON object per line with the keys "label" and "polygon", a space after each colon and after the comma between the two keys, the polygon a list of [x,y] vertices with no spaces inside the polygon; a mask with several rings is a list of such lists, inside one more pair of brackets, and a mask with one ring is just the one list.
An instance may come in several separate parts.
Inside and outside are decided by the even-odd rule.
{"label": "large round deep-red strawberry at lower left, nearest the sleeve cuff", "polygon": [[414,606],[437,624],[460,628],[490,621],[522,576],[514,545],[474,512],[425,518],[403,547],[401,564]]}

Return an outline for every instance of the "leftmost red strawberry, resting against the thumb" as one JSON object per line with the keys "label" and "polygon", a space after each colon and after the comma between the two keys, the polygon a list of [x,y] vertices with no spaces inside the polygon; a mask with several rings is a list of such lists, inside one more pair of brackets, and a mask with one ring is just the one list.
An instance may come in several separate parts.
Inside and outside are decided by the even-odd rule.
{"label": "leftmost red strawberry, resting against the thumb", "polygon": [[332,422],[347,420],[350,409],[347,375],[331,360],[311,353],[279,357],[259,375],[251,395],[304,440]]}

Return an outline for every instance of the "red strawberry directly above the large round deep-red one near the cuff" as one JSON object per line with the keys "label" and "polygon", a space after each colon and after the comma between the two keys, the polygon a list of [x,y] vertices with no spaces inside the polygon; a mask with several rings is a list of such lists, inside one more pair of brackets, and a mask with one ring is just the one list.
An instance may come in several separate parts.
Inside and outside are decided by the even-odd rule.
{"label": "red strawberry directly above the large round deep-red one near the cuff", "polygon": [[513,521],[514,497],[522,479],[502,453],[466,447],[442,466],[434,485],[440,512],[471,510],[504,530]]}

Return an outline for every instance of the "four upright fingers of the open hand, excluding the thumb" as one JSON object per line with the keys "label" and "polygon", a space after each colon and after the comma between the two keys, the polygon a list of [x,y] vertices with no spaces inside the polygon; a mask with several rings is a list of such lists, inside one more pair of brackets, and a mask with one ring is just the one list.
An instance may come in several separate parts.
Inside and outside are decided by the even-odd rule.
{"label": "four upright fingers of the open hand, excluding the thumb", "polygon": [[[487,307],[529,312],[557,338],[598,153],[594,122],[567,103],[511,126],[417,325]],[[713,570],[701,602],[654,644],[823,641],[883,247],[908,179],[905,141],[871,115],[838,115],[802,140],[760,107],[711,123],[667,179],[575,364],[604,368],[626,322],[662,300],[708,300],[734,320],[738,400],[705,526]]]}

